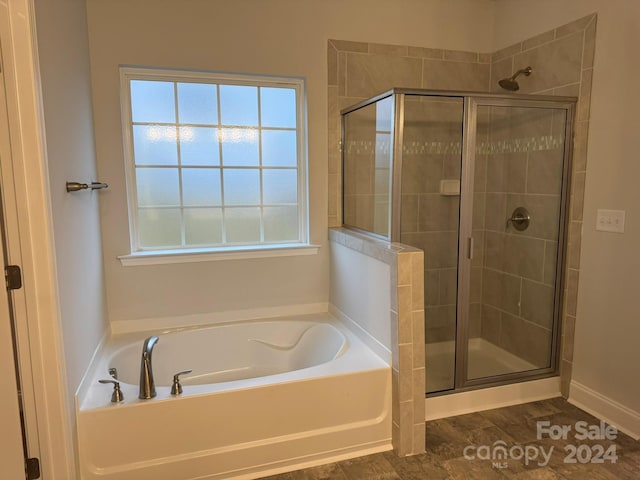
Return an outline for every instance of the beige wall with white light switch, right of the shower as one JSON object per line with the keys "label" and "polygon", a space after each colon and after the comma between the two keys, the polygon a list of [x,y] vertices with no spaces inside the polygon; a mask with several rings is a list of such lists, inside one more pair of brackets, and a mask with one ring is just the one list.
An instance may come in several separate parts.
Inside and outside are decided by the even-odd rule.
{"label": "beige wall with white light switch, right of the shower", "polygon": [[[640,412],[640,3],[498,0],[495,48],[598,13],[573,380]],[[550,14],[549,12],[553,12]],[[595,230],[596,209],[626,210],[623,235]]]}

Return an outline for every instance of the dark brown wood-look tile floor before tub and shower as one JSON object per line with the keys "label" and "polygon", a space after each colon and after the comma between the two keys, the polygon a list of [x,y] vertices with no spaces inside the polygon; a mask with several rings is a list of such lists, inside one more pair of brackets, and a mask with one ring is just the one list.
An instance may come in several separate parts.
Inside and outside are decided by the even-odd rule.
{"label": "dark brown wood-look tile floor before tub and shower", "polygon": [[[538,423],[568,426],[566,439],[537,438]],[[584,423],[578,423],[584,422]],[[542,424],[541,424],[542,425]],[[584,427],[584,428],[582,428]],[[615,439],[576,439],[587,429],[603,433],[600,421],[562,398],[487,410],[427,422],[427,451],[399,458],[384,452],[266,477],[268,480],[640,480],[640,442],[618,432]],[[495,444],[495,442],[504,442]],[[512,453],[500,463],[465,458],[486,446],[504,445]],[[513,447],[515,449],[512,449]],[[527,448],[529,447],[529,448]],[[534,451],[526,461],[520,452]],[[548,461],[545,461],[542,456]],[[609,452],[609,455],[606,455]],[[572,456],[572,453],[575,455]],[[617,456],[612,461],[612,454]],[[589,460],[602,459],[603,463]],[[575,463],[570,463],[575,459]]]}

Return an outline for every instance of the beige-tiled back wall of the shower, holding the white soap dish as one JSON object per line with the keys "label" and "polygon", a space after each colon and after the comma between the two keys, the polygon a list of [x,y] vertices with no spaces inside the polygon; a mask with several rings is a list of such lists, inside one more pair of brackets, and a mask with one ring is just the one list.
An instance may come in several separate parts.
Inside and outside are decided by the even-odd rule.
{"label": "beige-tiled back wall of the shower, holding the white soap dish", "polygon": [[[342,225],[340,110],[392,87],[488,91],[490,60],[490,55],[475,52],[329,41],[330,226]],[[427,341],[452,340],[459,197],[441,196],[439,191],[440,180],[460,177],[462,107],[457,102],[415,100],[407,101],[406,108],[407,119],[415,121],[405,122],[401,241],[425,252]],[[362,140],[372,143],[368,137]],[[425,152],[419,147],[425,142],[436,142],[444,148]],[[373,173],[370,178],[373,185]],[[355,210],[350,205],[345,207],[347,216]],[[479,333],[479,299],[474,303],[474,312],[477,315],[473,332]]]}

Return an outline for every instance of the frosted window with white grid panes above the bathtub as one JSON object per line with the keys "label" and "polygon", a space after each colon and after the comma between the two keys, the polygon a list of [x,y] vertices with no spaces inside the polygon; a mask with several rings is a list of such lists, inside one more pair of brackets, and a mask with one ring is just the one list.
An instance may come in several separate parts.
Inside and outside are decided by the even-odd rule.
{"label": "frosted window with white grid panes above the bathtub", "polygon": [[304,83],[121,69],[132,254],[307,242]]}

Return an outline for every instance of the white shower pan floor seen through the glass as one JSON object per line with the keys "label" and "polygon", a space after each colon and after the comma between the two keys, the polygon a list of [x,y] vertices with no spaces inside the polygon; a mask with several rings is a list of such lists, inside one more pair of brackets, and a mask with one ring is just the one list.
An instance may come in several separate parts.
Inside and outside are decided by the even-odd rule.
{"label": "white shower pan floor seen through the glass", "polygon": [[[427,392],[453,388],[455,344],[428,343],[425,347]],[[482,338],[469,340],[469,378],[482,378],[511,372],[533,370],[535,365],[517,357]]]}

